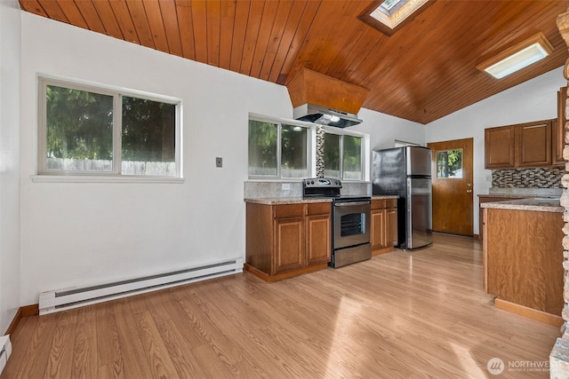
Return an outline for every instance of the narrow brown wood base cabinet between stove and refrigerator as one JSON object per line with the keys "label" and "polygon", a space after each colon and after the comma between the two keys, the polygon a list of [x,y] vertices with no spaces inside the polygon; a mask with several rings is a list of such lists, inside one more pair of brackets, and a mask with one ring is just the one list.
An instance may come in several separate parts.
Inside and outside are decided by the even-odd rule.
{"label": "narrow brown wood base cabinet between stove and refrigerator", "polygon": [[372,254],[393,250],[397,245],[397,199],[372,200]]}

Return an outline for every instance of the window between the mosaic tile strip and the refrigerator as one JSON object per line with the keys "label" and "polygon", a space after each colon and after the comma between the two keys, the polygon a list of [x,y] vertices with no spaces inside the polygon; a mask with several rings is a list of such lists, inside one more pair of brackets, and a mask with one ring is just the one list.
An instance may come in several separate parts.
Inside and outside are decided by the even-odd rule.
{"label": "window between the mosaic tile strip and the refrigerator", "polygon": [[365,180],[365,136],[345,129],[325,127],[325,177]]}

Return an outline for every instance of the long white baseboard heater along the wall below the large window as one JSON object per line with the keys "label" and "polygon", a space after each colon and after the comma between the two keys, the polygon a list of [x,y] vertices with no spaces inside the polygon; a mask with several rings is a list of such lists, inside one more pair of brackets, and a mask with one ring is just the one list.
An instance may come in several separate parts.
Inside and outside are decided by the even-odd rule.
{"label": "long white baseboard heater along the wall below the large window", "polygon": [[199,280],[218,278],[238,272],[243,272],[243,258],[129,280],[96,284],[83,288],[74,287],[46,291],[39,296],[39,314],[60,312],[88,304],[102,303],[121,297],[171,288]]}

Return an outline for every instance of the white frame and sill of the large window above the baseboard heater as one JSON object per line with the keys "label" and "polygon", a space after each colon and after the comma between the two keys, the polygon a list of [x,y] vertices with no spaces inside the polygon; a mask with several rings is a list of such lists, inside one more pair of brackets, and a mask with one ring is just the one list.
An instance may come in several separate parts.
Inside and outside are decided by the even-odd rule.
{"label": "white frame and sill of the large window above the baseboard heater", "polygon": [[[47,86],[53,85],[77,91],[89,91],[101,95],[113,97],[113,170],[109,171],[88,171],[88,170],[47,170],[45,156],[47,150]],[[99,83],[88,83],[79,80],[68,80],[49,75],[37,76],[37,159],[36,175],[32,176],[34,182],[108,182],[118,180],[121,182],[183,182],[182,167],[182,100],[155,93],[128,90],[120,87],[101,85]],[[122,98],[124,96],[137,99],[148,99],[151,101],[162,102],[175,106],[175,130],[174,130],[174,159],[176,162],[176,174],[173,176],[158,175],[127,175],[122,174]],[[118,110],[118,111],[116,111]],[[84,177],[84,178],[80,178]],[[64,179],[72,178],[72,179]],[[110,180],[109,180],[110,179]]]}

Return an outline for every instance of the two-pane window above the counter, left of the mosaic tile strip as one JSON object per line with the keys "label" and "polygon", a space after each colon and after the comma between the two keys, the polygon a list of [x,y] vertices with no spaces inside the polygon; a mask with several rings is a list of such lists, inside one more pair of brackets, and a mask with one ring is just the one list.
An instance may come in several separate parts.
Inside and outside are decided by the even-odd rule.
{"label": "two-pane window above the counter, left of the mosaic tile strip", "polygon": [[309,178],[314,134],[307,122],[250,114],[249,178]]}

